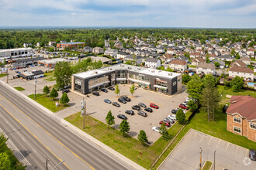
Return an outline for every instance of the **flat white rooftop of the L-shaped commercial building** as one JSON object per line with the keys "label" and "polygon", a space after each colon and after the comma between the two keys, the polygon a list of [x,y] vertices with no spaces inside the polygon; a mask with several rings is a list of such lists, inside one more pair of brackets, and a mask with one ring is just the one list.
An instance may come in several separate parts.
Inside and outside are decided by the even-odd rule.
{"label": "flat white rooftop of the L-shaped commercial building", "polygon": [[116,64],[113,66],[106,66],[106,67],[98,69],[98,70],[90,70],[90,71],[83,72],[83,73],[76,73],[76,74],[74,74],[74,76],[78,76],[82,79],[85,79],[90,76],[109,73],[109,72],[112,72],[113,70],[130,70],[130,71],[137,72],[137,73],[142,73],[142,74],[151,75],[151,76],[159,76],[159,77],[164,77],[164,78],[168,78],[168,79],[173,79],[175,76],[181,75],[181,73],[173,73],[173,72],[168,72],[168,71],[163,71],[163,70],[149,69],[149,68],[145,68],[145,67],[141,67],[141,66],[131,66],[131,65],[127,65],[127,64]]}

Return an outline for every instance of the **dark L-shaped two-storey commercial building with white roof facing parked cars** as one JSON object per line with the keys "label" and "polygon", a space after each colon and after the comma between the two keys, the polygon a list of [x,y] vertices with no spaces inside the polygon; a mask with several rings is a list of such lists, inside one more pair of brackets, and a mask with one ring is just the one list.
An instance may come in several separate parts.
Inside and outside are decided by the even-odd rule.
{"label": "dark L-shaped two-storey commercial building with white roof facing parked cars", "polygon": [[182,90],[182,74],[154,70],[140,66],[116,64],[98,70],[76,73],[71,76],[71,90],[80,93],[115,85],[116,83],[134,84],[147,90],[172,95]]}

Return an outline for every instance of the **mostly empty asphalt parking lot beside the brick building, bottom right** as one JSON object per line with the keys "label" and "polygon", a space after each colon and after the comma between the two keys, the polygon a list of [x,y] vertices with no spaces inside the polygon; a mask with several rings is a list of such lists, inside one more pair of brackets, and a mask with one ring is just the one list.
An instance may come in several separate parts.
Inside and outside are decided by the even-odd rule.
{"label": "mostly empty asphalt parking lot beside the brick building, bottom right", "polygon": [[256,168],[256,162],[248,158],[248,149],[190,129],[158,169],[199,169],[199,148],[202,148],[202,164],[206,160],[214,162],[216,151],[216,170]]}

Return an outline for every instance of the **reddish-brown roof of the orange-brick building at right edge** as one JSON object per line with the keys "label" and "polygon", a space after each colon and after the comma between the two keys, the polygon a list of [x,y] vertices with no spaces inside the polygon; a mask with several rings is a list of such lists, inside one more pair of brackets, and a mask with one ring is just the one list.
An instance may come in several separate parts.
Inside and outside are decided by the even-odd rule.
{"label": "reddish-brown roof of the orange-brick building at right edge", "polygon": [[251,96],[232,96],[227,114],[240,114],[248,121],[256,120],[256,98]]}

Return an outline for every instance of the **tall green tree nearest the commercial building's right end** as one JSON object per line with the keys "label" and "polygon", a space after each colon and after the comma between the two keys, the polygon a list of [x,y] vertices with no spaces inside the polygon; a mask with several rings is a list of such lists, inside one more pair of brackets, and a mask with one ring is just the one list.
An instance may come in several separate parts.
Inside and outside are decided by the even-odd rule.
{"label": "tall green tree nearest the commercial building's right end", "polygon": [[187,93],[189,93],[189,97],[192,97],[197,101],[197,105],[199,105],[202,86],[202,80],[198,75],[193,75],[189,83],[187,83]]}

